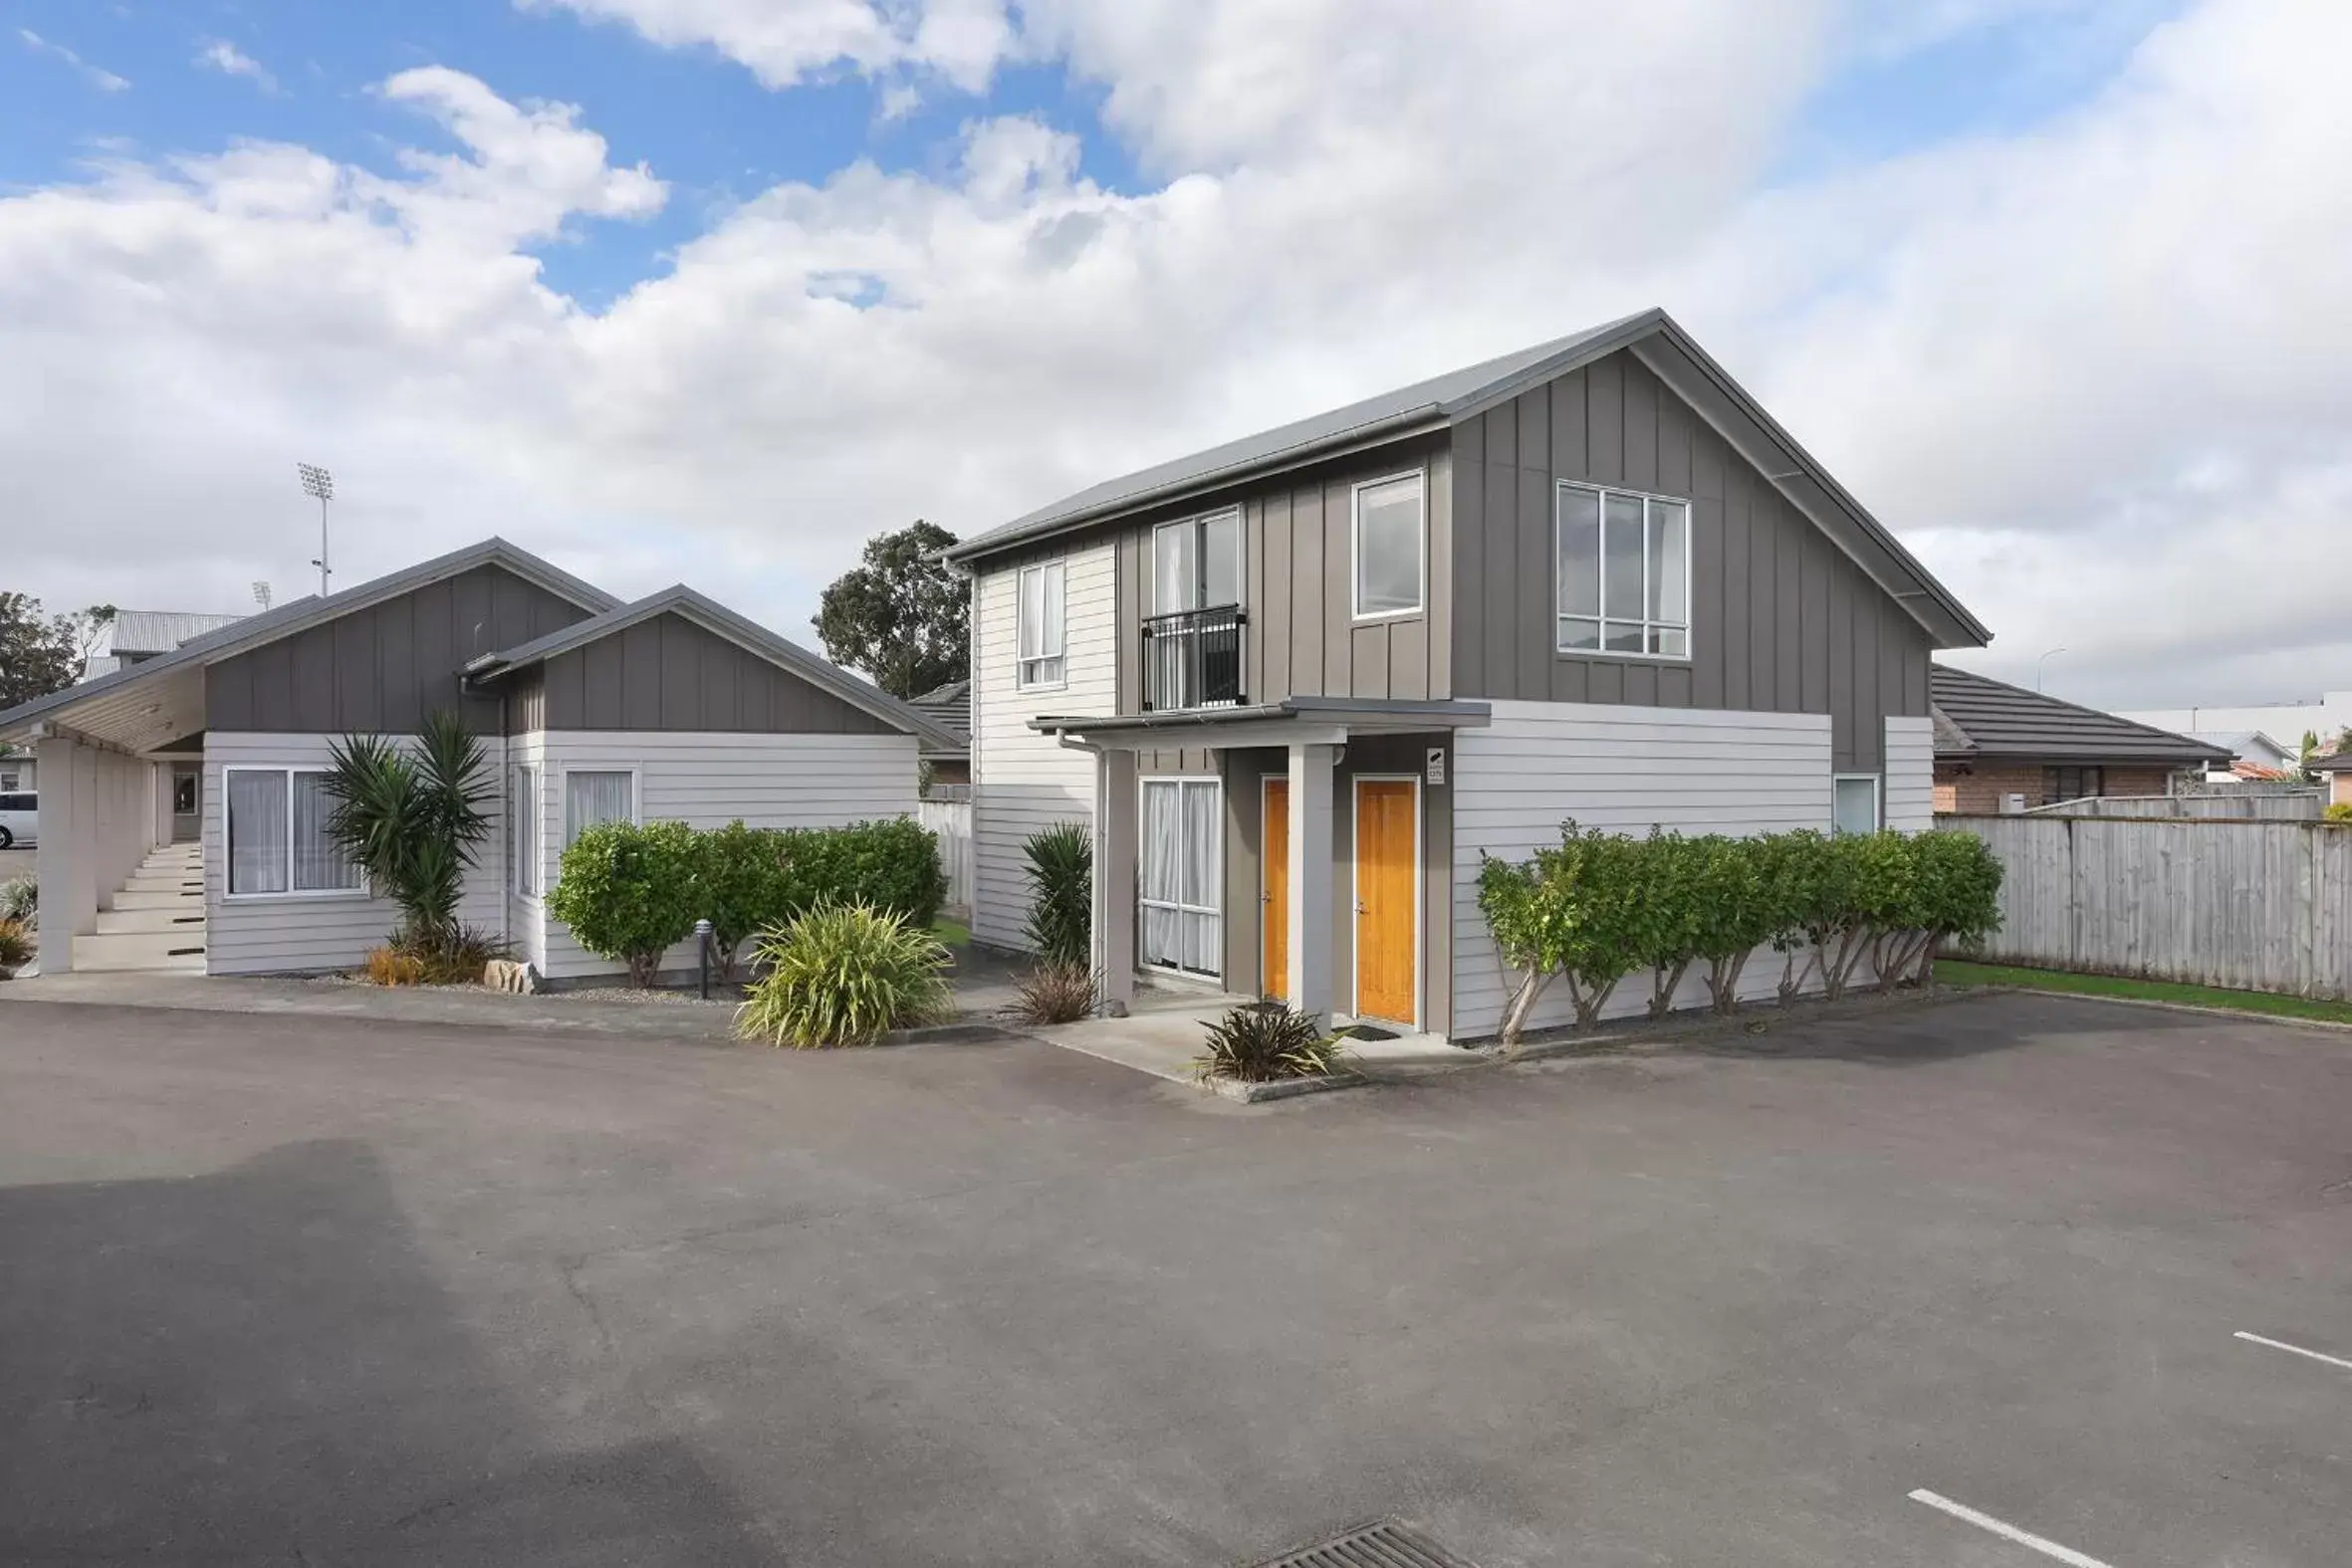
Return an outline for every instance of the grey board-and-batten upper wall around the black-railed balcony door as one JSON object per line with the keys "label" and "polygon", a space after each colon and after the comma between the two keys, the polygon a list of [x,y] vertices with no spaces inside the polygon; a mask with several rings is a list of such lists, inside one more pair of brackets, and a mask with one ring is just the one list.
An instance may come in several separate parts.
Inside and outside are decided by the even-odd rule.
{"label": "grey board-and-batten upper wall around the black-railed balcony door", "polygon": [[[1423,473],[1428,527],[1423,611],[1355,618],[1355,487]],[[1143,621],[1152,604],[1152,531],[1164,522],[1242,512],[1242,696],[1442,698],[1451,691],[1444,635],[1454,595],[1454,477],[1442,442],[1421,440],[1374,458],[1324,463],[1207,501],[1192,498],[1122,527],[1120,712],[1143,712]]]}

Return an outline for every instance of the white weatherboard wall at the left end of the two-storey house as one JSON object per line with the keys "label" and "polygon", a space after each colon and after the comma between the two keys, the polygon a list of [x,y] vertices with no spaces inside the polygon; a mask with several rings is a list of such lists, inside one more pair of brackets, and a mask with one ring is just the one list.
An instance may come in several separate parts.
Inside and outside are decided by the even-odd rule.
{"label": "white weatherboard wall at the left end of the two-storey house", "polygon": [[1028,726],[1037,715],[1117,710],[1117,567],[1110,543],[1063,557],[1065,684],[1016,684],[1018,571],[985,571],[971,618],[971,936],[993,947],[1025,947],[1030,889],[1021,846],[1040,827],[1094,827],[1094,757]]}

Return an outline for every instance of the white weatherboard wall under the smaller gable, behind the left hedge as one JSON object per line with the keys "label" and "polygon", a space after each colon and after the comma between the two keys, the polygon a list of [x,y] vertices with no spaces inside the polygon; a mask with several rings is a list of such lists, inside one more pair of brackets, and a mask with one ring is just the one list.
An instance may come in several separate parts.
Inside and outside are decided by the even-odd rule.
{"label": "white weatherboard wall under the smaller gable, behind the left hedge", "polygon": [[[539,886],[553,889],[564,851],[564,773],[633,771],[640,823],[724,827],[741,818],[748,827],[847,827],[894,816],[915,816],[915,736],[750,736],[668,731],[567,731],[532,733],[515,743],[536,752],[541,823]],[[550,980],[614,976],[628,966],[583,952],[569,926],[543,905],[517,898],[517,910],[539,912],[541,931],[517,947]],[[691,969],[694,945],[680,943],[663,969]]]}

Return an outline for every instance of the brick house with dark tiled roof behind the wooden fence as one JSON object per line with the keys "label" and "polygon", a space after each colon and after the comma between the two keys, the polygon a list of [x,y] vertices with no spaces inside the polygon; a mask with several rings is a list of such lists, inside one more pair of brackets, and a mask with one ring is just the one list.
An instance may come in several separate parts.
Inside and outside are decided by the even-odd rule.
{"label": "brick house with dark tiled roof behind the wooden fence", "polygon": [[2030,811],[2093,795],[2169,795],[2173,773],[2230,766],[2206,741],[2060,703],[1969,670],[1929,670],[1936,811]]}

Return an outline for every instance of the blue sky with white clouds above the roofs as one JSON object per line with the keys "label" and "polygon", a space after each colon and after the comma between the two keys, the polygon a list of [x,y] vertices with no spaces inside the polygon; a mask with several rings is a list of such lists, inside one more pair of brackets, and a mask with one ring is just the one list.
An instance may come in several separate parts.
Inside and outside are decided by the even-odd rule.
{"label": "blue sky with white clouds above the roofs", "polygon": [[0,0],[0,588],[868,534],[1663,303],[2107,705],[2352,686],[2343,0]]}

